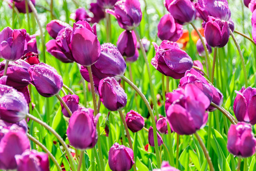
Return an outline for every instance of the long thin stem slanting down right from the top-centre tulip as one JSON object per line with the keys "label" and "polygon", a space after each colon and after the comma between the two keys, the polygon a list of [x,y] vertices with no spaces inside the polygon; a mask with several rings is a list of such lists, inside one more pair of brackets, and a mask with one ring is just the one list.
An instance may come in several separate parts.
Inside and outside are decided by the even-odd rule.
{"label": "long thin stem slanting down right from the top-centre tulip", "polygon": [[146,54],[145,48],[144,48],[144,46],[141,42],[141,38],[139,37],[138,31],[136,30],[136,28],[134,28],[134,32],[135,32],[137,41],[139,42],[139,46],[141,48],[143,58],[144,58],[145,63],[146,63],[147,75],[149,76],[149,87],[150,87],[151,97],[152,97],[153,104],[154,104],[155,115],[157,116],[157,119],[159,119],[158,109],[157,109],[157,100],[155,99],[155,93],[154,93],[154,88],[153,88],[153,83],[152,83],[152,78],[151,78],[151,72],[150,72],[150,68],[149,68],[149,61],[147,60],[147,54]]}

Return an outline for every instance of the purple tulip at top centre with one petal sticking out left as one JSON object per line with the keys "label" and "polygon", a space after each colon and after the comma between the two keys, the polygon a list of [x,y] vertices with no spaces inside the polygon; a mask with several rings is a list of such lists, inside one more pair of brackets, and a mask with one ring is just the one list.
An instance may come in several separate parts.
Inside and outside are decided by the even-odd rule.
{"label": "purple tulip at top centre with one petal sticking out left", "polygon": [[121,0],[115,3],[114,10],[106,13],[117,18],[119,26],[125,30],[133,30],[139,26],[142,19],[141,3],[138,0]]}

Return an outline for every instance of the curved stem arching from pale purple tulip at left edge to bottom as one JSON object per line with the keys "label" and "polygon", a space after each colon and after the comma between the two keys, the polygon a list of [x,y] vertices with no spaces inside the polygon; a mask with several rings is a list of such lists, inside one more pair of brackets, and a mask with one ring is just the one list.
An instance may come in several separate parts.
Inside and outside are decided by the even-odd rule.
{"label": "curved stem arching from pale purple tulip at left edge to bottom", "polygon": [[59,143],[61,143],[63,148],[66,150],[67,157],[69,158],[71,169],[75,170],[75,164],[74,164],[73,156],[71,155],[71,153],[69,151],[69,148],[67,147],[67,145],[66,145],[65,141],[62,139],[62,137],[59,136],[59,134],[53,128],[51,128],[49,125],[47,125],[43,121],[39,120],[37,117],[34,117],[33,115],[30,115],[29,113],[27,113],[27,117],[29,117],[29,119],[35,121],[36,123],[42,125],[43,127],[45,127],[48,131],[50,131],[59,140]]}

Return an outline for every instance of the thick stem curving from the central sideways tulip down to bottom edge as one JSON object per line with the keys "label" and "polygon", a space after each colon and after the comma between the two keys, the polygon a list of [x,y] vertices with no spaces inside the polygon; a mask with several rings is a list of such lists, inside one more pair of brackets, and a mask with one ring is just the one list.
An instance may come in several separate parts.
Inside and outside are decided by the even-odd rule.
{"label": "thick stem curving from the central sideways tulip down to bottom edge", "polygon": [[145,95],[143,95],[143,93],[141,91],[139,91],[138,87],[136,87],[129,79],[127,79],[125,76],[122,76],[122,79],[125,80],[125,82],[128,83],[131,87],[133,87],[133,89],[138,93],[138,95],[141,96],[142,100],[146,104],[147,109],[149,110],[149,114],[150,114],[152,124],[153,124],[155,155],[157,156],[157,168],[161,168],[158,141],[157,141],[157,125],[155,124],[155,117],[154,117],[153,111],[150,107],[149,101],[147,101]]}

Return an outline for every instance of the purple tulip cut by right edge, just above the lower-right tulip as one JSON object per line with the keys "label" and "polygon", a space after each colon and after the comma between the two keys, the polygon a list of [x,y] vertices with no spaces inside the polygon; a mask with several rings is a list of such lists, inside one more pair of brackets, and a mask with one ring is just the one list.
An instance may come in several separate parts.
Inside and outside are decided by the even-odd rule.
{"label": "purple tulip cut by right edge, just above the lower-right tulip", "polygon": [[234,113],[238,121],[244,121],[251,125],[256,124],[256,88],[242,87],[240,91],[235,91],[237,96],[234,100]]}

